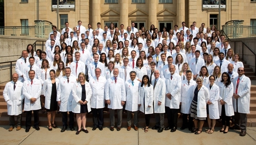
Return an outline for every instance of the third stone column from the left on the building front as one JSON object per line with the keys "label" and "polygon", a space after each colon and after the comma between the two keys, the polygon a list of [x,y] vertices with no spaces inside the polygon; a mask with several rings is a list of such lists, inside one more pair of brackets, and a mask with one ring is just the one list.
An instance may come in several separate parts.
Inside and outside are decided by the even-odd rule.
{"label": "third stone column from the left on the building front", "polygon": [[149,0],[149,18],[148,18],[148,26],[146,26],[146,30],[150,29],[150,26],[153,24],[155,28],[158,28],[157,17],[156,17],[156,5],[158,4],[158,0]]}

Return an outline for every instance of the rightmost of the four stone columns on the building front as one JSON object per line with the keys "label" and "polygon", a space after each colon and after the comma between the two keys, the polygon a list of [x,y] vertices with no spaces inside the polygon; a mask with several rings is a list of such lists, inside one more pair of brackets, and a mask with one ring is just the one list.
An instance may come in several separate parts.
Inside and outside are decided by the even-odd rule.
{"label": "rightmost of the four stone columns on the building front", "polygon": [[182,27],[181,23],[185,21],[185,0],[177,0],[177,21],[178,27]]}

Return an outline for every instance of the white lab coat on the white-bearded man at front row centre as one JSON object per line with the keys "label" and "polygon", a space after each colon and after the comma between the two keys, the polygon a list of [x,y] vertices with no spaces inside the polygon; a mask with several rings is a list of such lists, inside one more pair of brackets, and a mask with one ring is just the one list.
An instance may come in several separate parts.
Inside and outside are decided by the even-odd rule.
{"label": "white lab coat on the white-bearded man at front row centre", "polygon": [[110,100],[108,108],[122,109],[121,101],[126,101],[125,82],[122,78],[117,77],[115,83],[114,76],[109,78],[105,84],[105,99]]}

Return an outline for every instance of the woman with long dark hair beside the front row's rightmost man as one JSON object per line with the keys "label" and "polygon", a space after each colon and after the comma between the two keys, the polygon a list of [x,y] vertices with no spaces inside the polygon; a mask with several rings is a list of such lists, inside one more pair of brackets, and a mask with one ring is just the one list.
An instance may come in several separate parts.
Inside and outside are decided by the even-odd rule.
{"label": "woman with long dark hair beside the front row's rightmost man", "polygon": [[232,96],[234,91],[233,83],[230,81],[228,73],[224,72],[221,76],[222,80],[218,83],[220,88],[219,98],[219,114],[221,115],[222,128],[220,132],[227,133],[230,126],[229,120],[234,115]]}

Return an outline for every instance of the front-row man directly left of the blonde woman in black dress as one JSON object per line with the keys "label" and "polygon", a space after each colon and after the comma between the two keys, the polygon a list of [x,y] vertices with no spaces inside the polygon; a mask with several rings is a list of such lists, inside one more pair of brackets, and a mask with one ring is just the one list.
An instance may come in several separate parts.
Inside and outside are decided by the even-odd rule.
{"label": "front-row man directly left of the blonde woman in black dress", "polygon": [[60,132],[64,132],[67,129],[67,111],[69,112],[69,128],[74,131],[74,113],[72,112],[72,86],[77,84],[77,80],[71,74],[70,67],[65,68],[65,76],[60,79],[60,83],[57,88],[57,102],[60,106],[60,112],[62,112],[62,124],[63,128]]}

